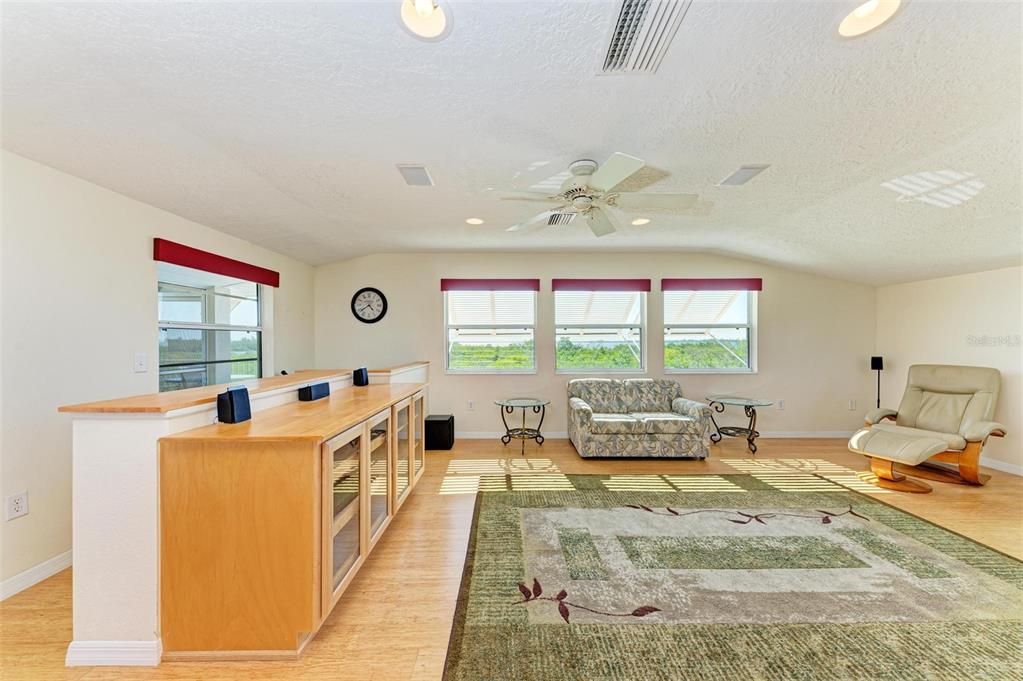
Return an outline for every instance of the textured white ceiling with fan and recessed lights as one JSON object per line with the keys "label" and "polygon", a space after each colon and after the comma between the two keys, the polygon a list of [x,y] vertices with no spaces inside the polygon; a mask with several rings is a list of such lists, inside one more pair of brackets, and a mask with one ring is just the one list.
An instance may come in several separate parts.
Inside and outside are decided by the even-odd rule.
{"label": "textured white ceiling with fan and recessed lights", "polygon": [[[4,3],[3,146],[314,264],[667,248],[887,283],[1019,262],[1020,4],[911,0],[842,40],[856,3],[695,0],[657,75],[611,77],[614,3],[457,3],[441,43],[397,0]],[[503,231],[542,206],[488,187],[613,151],[713,210]],[[771,168],[714,186],[743,163]],[[945,210],[880,186],[945,169],[986,188]]]}

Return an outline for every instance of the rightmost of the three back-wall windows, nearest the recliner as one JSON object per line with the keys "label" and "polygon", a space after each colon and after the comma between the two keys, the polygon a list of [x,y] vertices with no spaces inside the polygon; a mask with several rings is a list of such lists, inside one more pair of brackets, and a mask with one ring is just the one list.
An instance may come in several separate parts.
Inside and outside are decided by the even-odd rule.
{"label": "rightmost of the three back-wall windows, nearest the recliner", "polygon": [[[751,290],[671,289],[669,281],[662,283],[665,371],[753,371],[753,311],[759,280],[755,280],[756,289]],[[735,284],[717,281],[721,283],[708,285],[738,286],[744,280]]]}

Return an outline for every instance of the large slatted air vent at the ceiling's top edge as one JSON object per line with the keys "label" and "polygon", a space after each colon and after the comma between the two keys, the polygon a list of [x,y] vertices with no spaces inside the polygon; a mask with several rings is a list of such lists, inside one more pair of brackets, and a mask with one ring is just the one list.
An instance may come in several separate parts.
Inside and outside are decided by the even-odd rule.
{"label": "large slatted air vent at the ceiling's top edge", "polygon": [[623,0],[602,72],[653,74],[693,0]]}

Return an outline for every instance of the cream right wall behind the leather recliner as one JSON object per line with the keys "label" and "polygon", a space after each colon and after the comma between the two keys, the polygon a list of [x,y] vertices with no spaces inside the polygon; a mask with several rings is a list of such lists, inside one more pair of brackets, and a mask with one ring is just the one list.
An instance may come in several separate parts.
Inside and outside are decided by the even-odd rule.
{"label": "cream right wall behind the leather recliner", "polygon": [[885,358],[882,405],[898,407],[910,364],[968,364],[1002,371],[984,461],[1023,474],[1023,268],[964,274],[878,288],[877,349]]}

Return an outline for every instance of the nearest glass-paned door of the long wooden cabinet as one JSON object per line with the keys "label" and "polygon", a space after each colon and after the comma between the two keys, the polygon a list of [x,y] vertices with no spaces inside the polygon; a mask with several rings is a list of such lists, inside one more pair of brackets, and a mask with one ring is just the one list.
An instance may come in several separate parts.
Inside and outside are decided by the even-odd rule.
{"label": "nearest glass-paned door of the long wooden cabinet", "polygon": [[337,590],[361,553],[359,533],[359,473],[362,458],[361,428],[327,442],[328,482],[325,494],[329,524],[328,583]]}

